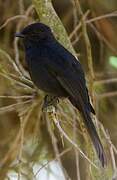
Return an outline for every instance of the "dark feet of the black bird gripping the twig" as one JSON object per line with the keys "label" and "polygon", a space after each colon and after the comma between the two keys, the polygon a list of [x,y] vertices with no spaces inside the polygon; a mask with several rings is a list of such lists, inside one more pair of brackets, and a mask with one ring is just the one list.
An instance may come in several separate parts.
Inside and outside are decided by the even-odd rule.
{"label": "dark feet of the black bird gripping the twig", "polygon": [[42,110],[47,109],[48,106],[54,106],[57,109],[57,104],[59,103],[59,98],[56,96],[46,95],[44,98],[44,103]]}

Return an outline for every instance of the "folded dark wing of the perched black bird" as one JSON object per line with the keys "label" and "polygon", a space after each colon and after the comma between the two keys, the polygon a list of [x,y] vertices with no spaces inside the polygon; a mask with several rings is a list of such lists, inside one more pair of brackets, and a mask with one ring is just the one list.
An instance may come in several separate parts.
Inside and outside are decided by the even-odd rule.
{"label": "folded dark wing of the perched black bird", "polygon": [[50,63],[47,64],[48,71],[54,75],[69,96],[89,108],[90,102],[86,88],[84,72],[81,64],[62,46],[49,49]]}

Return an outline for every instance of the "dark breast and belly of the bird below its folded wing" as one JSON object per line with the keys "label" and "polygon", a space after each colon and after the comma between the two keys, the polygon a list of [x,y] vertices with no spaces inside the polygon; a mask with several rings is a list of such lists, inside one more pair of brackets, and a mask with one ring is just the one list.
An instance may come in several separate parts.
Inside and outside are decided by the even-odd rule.
{"label": "dark breast and belly of the bird below its folded wing", "polygon": [[66,97],[67,93],[59,84],[57,79],[52,76],[50,72],[48,72],[46,68],[46,64],[50,63],[50,61],[43,56],[38,55],[38,59],[32,57],[28,60],[28,68],[32,81],[34,84],[41,90],[46,93],[58,96],[58,97]]}

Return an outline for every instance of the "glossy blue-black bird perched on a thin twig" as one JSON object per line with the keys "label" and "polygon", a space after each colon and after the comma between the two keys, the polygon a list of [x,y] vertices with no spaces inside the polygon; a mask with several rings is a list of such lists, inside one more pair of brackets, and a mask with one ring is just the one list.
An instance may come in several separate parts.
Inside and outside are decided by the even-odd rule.
{"label": "glossy blue-black bird perched on a thin twig", "polygon": [[43,23],[25,27],[17,37],[23,38],[26,62],[34,84],[47,94],[66,97],[80,111],[102,166],[106,157],[90,114],[90,104],[83,69],[80,62],[54,37]]}

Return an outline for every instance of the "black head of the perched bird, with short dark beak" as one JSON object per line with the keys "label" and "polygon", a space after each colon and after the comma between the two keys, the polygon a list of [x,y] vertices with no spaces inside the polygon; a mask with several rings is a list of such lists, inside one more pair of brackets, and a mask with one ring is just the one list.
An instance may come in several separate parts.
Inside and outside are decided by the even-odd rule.
{"label": "black head of the perched bird, with short dark beak", "polygon": [[43,23],[33,23],[26,26],[21,32],[15,34],[16,37],[23,38],[24,41],[39,42],[51,39],[51,29]]}

